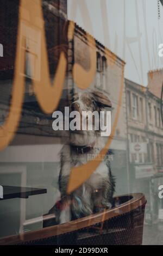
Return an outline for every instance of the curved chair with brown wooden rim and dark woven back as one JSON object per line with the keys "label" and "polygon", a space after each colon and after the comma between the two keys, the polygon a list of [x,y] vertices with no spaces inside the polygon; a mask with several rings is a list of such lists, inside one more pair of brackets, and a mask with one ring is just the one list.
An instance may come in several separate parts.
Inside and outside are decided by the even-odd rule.
{"label": "curved chair with brown wooden rim and dark woven back", "polygon": [[146,199],[115,198],[117,206],[61,225],[4,237],[0,245],[141,245]]}

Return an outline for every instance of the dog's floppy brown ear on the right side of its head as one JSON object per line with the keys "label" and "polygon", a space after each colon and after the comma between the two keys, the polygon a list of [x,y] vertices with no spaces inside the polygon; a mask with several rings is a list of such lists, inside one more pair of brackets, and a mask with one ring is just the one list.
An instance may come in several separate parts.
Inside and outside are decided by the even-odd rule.
{"label": "dog's floppy brown ear on the right side of its head", "polygon": [[109,98],[99,90],[93,90],[92,95],[99,107],[112,107]]}

